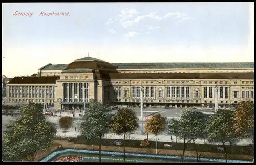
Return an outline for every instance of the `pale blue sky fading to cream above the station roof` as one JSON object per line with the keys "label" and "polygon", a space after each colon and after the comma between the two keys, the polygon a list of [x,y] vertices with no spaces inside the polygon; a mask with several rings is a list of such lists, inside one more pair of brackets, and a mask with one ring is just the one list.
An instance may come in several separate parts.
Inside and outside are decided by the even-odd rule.
{"label": "pale blue sky fading to cream above the station roof", "polygon": [[[3,4],[3,74],[8,77],[33,74],[47,63],[68,64],[87,56],[87,52],[92,57],[99,53],[99,58],[108,62],[253,61],[250,45],[254,43],[251,30],[254,21],[251,22],[249,6],[249,3]],[[13,16],[16,11],[33,12],[33,16]],[[69,16],[39,16],[41,12],[69,12]]]}

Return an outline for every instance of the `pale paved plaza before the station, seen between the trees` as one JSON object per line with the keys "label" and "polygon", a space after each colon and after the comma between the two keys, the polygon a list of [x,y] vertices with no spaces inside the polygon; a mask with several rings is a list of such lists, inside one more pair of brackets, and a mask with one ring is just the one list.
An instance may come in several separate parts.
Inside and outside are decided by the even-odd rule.
{"label": "pale paved plaza before the station, seen between the trees", "polygon": [[[147,135],[146,134],[144,134],[144,135],[141,134],[140,108],[134,108],[134,109],[135,109],[136,114],[139,118],[140,127],[133,134],[127,136],[127,139],[143,140],[147,137]],[[146,120],[147,116],[150,116],[152,114],[155,114],[155,113],[159,112],[162,116],[167,117],[168,119],[177,118],[177,117],[181,116],[182,110],[184,110],[184,109],[145,108],[144,113],[143,113],[143,126],[145,127],[145,120]],[[204,113],[212,113],[212,110],[206,110],[206,109],[203,109],[203,110],[199,109],[199,111],[202,111]],[[116,112],[117,112],[116,110],[112,111],[112,113],[116,113]],[[65,137],[65,133],[63,132],[62,129],[59,128],[59,122],[58,121],[60,119],[60,115],[61,116],[70,116],[70,117],[72,117],[73,120],[74,120],[73,126],[72,126],[72,128],[70,128],[68,130],[68,132],[66,134],[67,134],[67,137],[76,137],[76,136],[80,135],[79,125],[82,122],[82,117],[79,117],[79,114],[80,114],[80,112],[78,110],[76,110],[75,117],[73,117],[73,114],[71,114],[70,112],[69,112],[69,114],[67,112],[62,112],[61,114],[57,113],[56,117],[46,117],[46,118],[50,122],[56,124],[56,126],[57,126],[57,134],[56,135],[61,136],[61,137]],[[15,120],[14,117],[2,115],[2,130],[4,131],[4,126],[9,121],[13,121],[13,120]],[[75,127],[77,128],[76,131],[75,131]],[[145,128],[143,128],[143,130],[145,130]],[[119,135],[115,135],[115,134],[107,134],[104,138],[122,139],[123,136],[119,136]],[[148,134],[148,138],[150,138],[151,140],[155,140],[156,137],[152,134]],[[163,134],[158,135],[157,139],[159,141],[162,141],[162,142],[170,142],[170,135],[167,135],[164,132]],[[173,142],[175,142],[175,141],[176,141],[175,136],[173,136]],[[182,140],[177,139],[177,142],[182,142]],[[196,142],[197,143],[203,143],[203,140],[198,139],[198,140],[196,140]],[[250,143],[251,143],[250,139],[245,139],[245,140],[241,140],[241,142],[239,142],[238,145],[248,145]]]}

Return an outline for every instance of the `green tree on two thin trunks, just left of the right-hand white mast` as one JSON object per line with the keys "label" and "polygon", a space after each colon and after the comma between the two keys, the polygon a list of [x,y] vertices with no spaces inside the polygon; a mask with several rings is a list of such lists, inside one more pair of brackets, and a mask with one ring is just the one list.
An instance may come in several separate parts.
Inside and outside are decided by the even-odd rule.
{"label": "green tree on two thin trunks, just left of the right-hand white mast", "polygon": [[193,142],[193,146],[197,154],[197,162],[200,161],[202,152],[198,152],[198,144],[196,143],[196,139],[206,138],[207,131],[205,127],[206,117],[202,112],[194,110],[186,110],[182,112],[180,119],[180,137],[183,138],[182,161],[184,161],[187,143],[191,141]]}

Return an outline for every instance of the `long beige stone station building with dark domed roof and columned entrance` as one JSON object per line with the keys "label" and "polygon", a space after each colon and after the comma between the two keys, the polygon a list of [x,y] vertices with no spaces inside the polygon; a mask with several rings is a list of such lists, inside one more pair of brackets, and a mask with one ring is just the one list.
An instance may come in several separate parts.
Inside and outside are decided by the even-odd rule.
{"label": "long beige stone station building with dark domed roof and columned entrance", "polygon": [[[85,57],[70,64],[47,64],[30,77],[7,84],[9,103],[43,102],[55,109],[82,108],[89,99],[104,105],[220,107],[254,101],[254,62],[109,63]],[[43,94],[45,93],[45,94]]]}

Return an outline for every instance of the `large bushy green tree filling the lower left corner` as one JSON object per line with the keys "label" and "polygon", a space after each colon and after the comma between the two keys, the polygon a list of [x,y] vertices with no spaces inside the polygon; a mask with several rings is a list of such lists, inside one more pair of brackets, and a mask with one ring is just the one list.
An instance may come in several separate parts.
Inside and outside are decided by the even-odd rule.
{"label": "large bushy green tree filling the lower left corner", "polygon": [[5,161],[34,161],[38,151],[46,151],[53,144],[56,127],[45,119],[42,109],[25,105],[21,110],[18,120],[6,126],[2,148]]}

